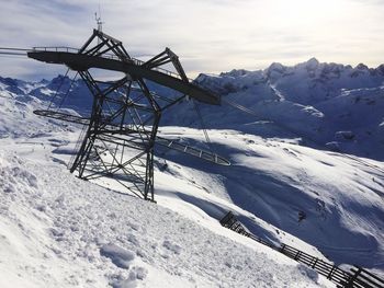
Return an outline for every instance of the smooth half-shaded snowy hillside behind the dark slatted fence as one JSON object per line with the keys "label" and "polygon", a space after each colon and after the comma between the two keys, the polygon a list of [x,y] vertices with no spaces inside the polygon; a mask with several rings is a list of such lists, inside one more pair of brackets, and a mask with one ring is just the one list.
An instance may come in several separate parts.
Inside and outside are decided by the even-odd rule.
{"label": "smooth half-shaded snowy hillside behind the dark slatted fence", "polygon": [[[174,133],[177,130],[173,128]],[[184,130],[184,134],[196,137],[194,130]],[[229,197],[236,206],[310,243],[339,264],[360,264],[383,270],[382,162],[234,130],[210,130],[210,135],[217,141],[218,151],[229,155],[231,166],[216,168],[189,159],[176,160],[191,169],[188,174],[193,175],[192,184],[206,188],[205,195],[197,199],[199,194],[190,192],[192,188],[185,189],[187,195],[178,191],[183,200],[215,217],[214,207],[228,206],[213,201],[206,194],[223,199]],[[172,176],[191,177],[178,175],[180,168],[168,166]],[[196,174],[197,169],[215,178],[213,185],[210,185],[212,180],[207,181],[207,174]],[[202,201],[204,197],[210,205]],[[300,221],[301,212],[305,219]],[[246,214],[242,216],[249,218]],[[279,239],[279,234],[259,221],[242,220],[258,235],[278,242],[290,241]]]}

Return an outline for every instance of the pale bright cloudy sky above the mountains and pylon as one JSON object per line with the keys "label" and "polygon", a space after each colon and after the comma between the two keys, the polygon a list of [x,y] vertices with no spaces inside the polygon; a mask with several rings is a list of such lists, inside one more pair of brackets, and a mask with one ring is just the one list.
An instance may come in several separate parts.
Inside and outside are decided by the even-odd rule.
{"label": "pale bright cloudy sky above the mountains and pylon", "polygon": [[[81,47],[97,27],[136,58],[170,47],[190,77],[272,62],[377,67],[384,0],[0,0],[0,47]],[[66,68],[0,56],[0,76],[53,78]]]}

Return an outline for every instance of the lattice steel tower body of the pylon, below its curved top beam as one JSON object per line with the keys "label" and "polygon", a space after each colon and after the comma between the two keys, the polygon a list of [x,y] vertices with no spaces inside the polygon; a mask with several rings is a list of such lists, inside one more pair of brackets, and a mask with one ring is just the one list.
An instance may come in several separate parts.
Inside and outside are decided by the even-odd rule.
{"label": "lattice steel tower body of the pylon, below its curved top beam", "polygon": [[[154,201],[154,148],[161,112],[143,79],[94,81],[80,73],[93,94],[90,124],[70,172],[84,180],[111,177],[133,194]],[[128,84],[126,84],[128,82]],[[121,90],[125,92],[122,93]]]}

